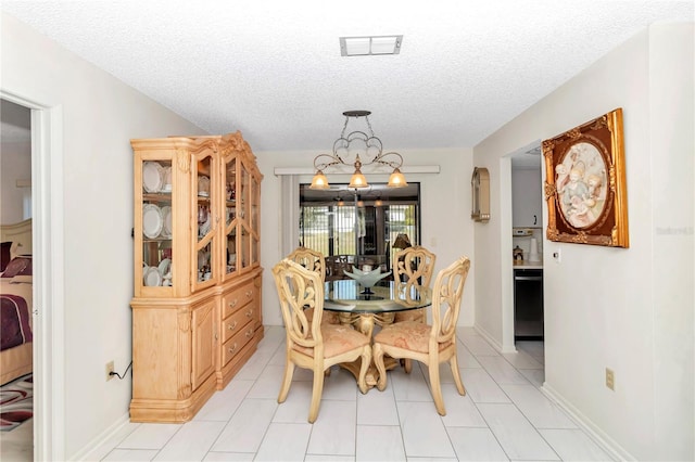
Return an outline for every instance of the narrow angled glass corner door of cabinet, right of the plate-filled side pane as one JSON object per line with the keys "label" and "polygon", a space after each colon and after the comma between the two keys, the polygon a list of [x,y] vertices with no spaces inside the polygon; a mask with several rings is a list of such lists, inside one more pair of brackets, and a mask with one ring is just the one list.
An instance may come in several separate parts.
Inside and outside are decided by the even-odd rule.
{"label": "narrow angled glass corner door of cabinet, right of the plate-filled side pane", "polygon": [[205,150],[195,154],[192,167],[192,190],[194,192],[192,218],[195,221],[193,230],[197,231],[194,233],[193,265],[191,266],[194,271],[191,279],[194,291],[212,285],[219,279],[219,275],[216,274],[218,265],[215,265],[215,246],[217,243],[214,239],[219,213],[214,194],[218,189],[213,152]]}

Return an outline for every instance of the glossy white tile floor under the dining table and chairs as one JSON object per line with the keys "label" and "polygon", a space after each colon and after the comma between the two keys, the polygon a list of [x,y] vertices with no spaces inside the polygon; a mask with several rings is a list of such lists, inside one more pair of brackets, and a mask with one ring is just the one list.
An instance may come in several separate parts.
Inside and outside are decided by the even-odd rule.
{"label": "glossy white tile floor under the dining table and chairs", "polygon": [[[186,424],[127,424],[92,452],[103,461],[610,461],[568,415],[539,390],[543,343],[500,355],[472,329],[459,329],[465,397],[442,368],[446,416],[426,374],[389,372],[384,392],[362,395],[334,368],[318,420],[306,422],[311,373],[296,369],[285,403],[277,394],[285,331],[270,326],[258,350],[224,390]],[[4,458],[3,458],[4,460]]]}

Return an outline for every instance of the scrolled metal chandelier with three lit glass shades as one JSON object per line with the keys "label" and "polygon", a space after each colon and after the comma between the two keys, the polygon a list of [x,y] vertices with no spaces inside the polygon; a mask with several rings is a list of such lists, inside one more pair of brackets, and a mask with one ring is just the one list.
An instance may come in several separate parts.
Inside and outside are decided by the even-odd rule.
{"label": "scrolled metal chandelier with three lit glass shades", "polygon": [[[355,172],[352,175],[349,184],[351,189],[369,188],[367,179],[361,171],[361,168],[366,165],[382,165],[392,168],[393,172],[389,177],[388,183],[390,188],[402,188],[408,184],[405,182],[405,177],[400,170],[403,165],[403,156],[396,152],[383,153],[381,140],[375,137],[374,130],[371,129],[369,114],[371,114],[370,111],[345,111],[343,113],[345,116],[345,125],[343,125],[343,131],[340,132],[340,138],[333,143],[333,153],[319,154],[314,157],[316,175],[314,175],[312,179],[309,189],[329,189],[330,184],[328,184],[328,178],[324,175],[324,170],[338,165],[354,166]],[[348,123],[351,117],[364,117],[367,121],[369,132],[365,133],[364,131],[355,130],[345,136]],[[359,156],[361,154],[363,157]]]}

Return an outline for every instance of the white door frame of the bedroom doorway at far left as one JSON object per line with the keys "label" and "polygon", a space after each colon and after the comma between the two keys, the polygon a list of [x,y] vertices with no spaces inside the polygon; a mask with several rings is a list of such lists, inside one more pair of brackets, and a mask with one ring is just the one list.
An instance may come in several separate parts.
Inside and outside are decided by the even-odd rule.
{"label": "white door frame of the bedroom doorway at far left", "polygon": [[0,89],[31,111],[34,460],[65,459],[63,111]]}

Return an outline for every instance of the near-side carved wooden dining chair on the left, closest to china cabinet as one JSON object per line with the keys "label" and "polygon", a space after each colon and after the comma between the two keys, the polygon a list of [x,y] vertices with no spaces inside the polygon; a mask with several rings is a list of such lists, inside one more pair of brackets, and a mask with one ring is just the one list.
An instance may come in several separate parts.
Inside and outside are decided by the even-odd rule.
{"label": "near-side carved wooden dining chair on the left, closest to china cabinet", "polygon": [[[367,393],[370,338],[350,326],[321,323],[324,282],[316,272],[286,258],[273,268],[273,277],[287,333],[285,376],[278,402],[287,399],[294,367],[312,370],[314,383],[308,422],[314,423],[324,390],[324,374],[331,365],[362,358],[357,385],[363,394]],[[314,309],[315,322],[306,319],[305,306]]]}

